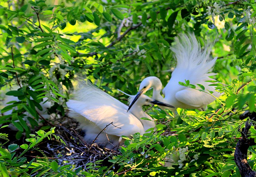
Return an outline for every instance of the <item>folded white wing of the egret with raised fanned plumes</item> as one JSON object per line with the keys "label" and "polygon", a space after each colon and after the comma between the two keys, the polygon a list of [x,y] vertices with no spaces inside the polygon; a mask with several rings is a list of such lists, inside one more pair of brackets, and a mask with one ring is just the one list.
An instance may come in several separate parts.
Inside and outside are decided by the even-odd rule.
{"label": "folded white wing of the egret with raised fanned plumes", "polygon": [[212,103],[215,100],[213,96],[192,88],[186,88],[178,91],[175,94],[175,97],[181,103],[198,108]]}

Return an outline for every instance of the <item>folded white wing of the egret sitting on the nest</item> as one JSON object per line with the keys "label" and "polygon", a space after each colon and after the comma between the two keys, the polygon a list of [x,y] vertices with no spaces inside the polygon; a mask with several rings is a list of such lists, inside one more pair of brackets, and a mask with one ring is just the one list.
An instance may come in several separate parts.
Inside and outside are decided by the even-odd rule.
{"label": "folded white wing of the egret sitting on the nest", "polygon": [[[140,120],[132,113],[126,112],[126,109],[113,103],[81,102],[69,100],[67,106],[70,110],[82,115],[85,119],[95,123],[101,130],[106,125],[113,122],[106,128],[106,133],[116,136],[130,136],[136,132],[144,133]],[[82,120],[78,120],[82,123]]]}

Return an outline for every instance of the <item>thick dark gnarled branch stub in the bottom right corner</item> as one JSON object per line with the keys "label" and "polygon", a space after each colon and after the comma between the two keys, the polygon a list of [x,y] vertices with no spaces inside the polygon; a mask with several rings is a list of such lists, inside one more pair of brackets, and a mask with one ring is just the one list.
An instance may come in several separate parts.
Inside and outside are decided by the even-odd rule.
{"label": "thick dark gnarled branch stub in the bottom right corner", "polygon": [[251,166],[247,163],[247,151],[249,148],[249,140],[247,138],[247,134],[249,129],[251,128],[251,123],[246,122],[244,131],[241,132],[242,139],[239,139],[236,144],[235,150],[235,162],[239,169],[241,176],[244,177],[255,177],[256,172],[252,170]]}

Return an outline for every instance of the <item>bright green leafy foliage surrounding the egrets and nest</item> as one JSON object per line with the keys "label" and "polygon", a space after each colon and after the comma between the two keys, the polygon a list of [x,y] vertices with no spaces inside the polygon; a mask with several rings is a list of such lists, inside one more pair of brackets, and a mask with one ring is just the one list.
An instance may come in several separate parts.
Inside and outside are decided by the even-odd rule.
{"label": "bright green leafy foliage surrounding the egrets and nest", "polygon": [[[255,114],[255,14],[252,0],[1,1],[1,96],[13,100],[3,105],[0,124],[15,127],[17,139],[25,133],[30,144],[1,145],[0,173],[4,177],[240,176],[233,157],[241,136],[238,127],[249,120],[248,112]],[[126,138],[108,165],[96,160],[82,170],[48,160],[26,163],[29,149],[54,136],[53,129],[44,130],[65,116],[77,73],[127,103],[116,89],[135,94],[140,81],[150,75],[166,85],[175,66],[170,46],[182,31],[194,32],[198,40],[215,41],[212,55],[218,60],[213,72],[219,83],[213,85],[223,93],[216,102],[205,111],[179,108],[178,117],[153,108],[150,115],[156,128]],[[189,81],[180,84],[196,88]],[[47,101],[49,120],[40,113]],[[31,136],[36,130],[37,135]],[[251,132],[253,142],[256,130]],[[6,143],[7,134],[0,138]],[[18,148],[24,152],[15,156]],[[254,148],[249,148],[249,163],[255,169]],[[165,167],[165,161],[171,167]]]}

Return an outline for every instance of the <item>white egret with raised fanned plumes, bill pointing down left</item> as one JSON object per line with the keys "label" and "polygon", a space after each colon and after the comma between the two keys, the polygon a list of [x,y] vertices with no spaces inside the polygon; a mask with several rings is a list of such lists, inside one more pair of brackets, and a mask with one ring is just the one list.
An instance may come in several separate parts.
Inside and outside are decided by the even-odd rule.
{"label": "white egret with raised fanned plumes, bill pointing down left", "polygon": [[[159,78],[150,76],[140,83],[140,88],[133,102],[130,104],[131,109],[133,103],[144,94],[149,88],[153,87],[152,98],[164,103],[171,104],[175,108],[200,109],[205,105],[213,102],[215,97],[219,97],[219,92],[213,92],[213,96],[199,90],[188,88],[179,84],[179,81],[185,82],[189,80],[190,84],[201,84],[205,90],[214,91],[215,87],[211,86],[214,79],[209,76],[215,73],[208,73],[217,60],[217,57],[210,57],[212,44],[207,42],[204,50],[201,49],[200,43],[196,40],[194,33],[180,34],[175,37],[175,45],[171,47],[177,65],[172,72],[172,77],[163,89],[164,98],[160,92],[162,83]],[[201,89],[196,85],[196,88]],[[215,96],[215,97],[214,97]]]}

